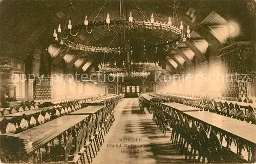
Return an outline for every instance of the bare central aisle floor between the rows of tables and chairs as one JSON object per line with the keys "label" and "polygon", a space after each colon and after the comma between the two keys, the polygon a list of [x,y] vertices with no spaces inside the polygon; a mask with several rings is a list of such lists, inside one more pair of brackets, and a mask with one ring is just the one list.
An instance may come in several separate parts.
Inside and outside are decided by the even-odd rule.
{"label": "bare central aisle floor between the rows of tables and chairs", "polygon": [[150,113],[139,112],[137,98],[122,100],[115,119],[93,163],[188,163],[170,144],[170,133],[164,136]]}

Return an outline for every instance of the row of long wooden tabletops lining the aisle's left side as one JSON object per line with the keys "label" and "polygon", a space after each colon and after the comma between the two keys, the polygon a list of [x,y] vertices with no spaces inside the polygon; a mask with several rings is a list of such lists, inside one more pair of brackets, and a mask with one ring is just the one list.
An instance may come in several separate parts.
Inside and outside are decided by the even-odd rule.
{"label": "row of long wooden tabletops lining the aisle's left side", "polygon": [[8,137],[18,138],[23,141],[22,143],[26,143],[24,151],[27,155],[30,155],[66,130],[86,121],[90,114],[95,114],[104,107],[105,106],[87,106],[40,126],[36,126],[18,134],[8,135]]}

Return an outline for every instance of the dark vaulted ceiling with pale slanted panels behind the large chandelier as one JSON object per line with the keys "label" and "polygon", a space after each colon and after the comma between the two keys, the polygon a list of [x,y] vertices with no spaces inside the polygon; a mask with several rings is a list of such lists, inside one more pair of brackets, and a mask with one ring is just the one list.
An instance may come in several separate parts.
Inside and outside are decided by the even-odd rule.
{"label": "dark vaulted ceiling with pale slanted panels behind the large chandelier", "polygon": [[[174,68],[182,69],[184,62],[193,65],[191,61],[194,56],[200,63],[207,61],[205,53],[208,46],[218,55],[219,49],[227,43],[236,40],[253,40],[255,35],[253,0],[123,0],[124,10],[121,11],[119,0],[2,0],[1,54],[26,56],[38,45],[48,48],[50,44],[54,44],[53,30],[57,29],[59,24],[62,29],[67,28],[69,19],[72,20],[72,25],[81,24],[86,15],[89,16],[89,21],[104,21],[107,13],[110,14],[111,20],[114,20],[119,19],[120,15],[121,19],[123,16],[127,18],[129,12],[132,12],[134,19],[149,19],[154,12],[158,16],[155,16],[156,21],[167,22],[168,16],[173,16],[174,2],[179,21],[182,20],[185,25],[190,26],[189,42],[180,45],[178,49],[159,50],[157,53],[147,51],[143,55],[143,45],[166,42],[172,34],[166,34],[158,29],[152,31],[143,28],[132,29],[129,38],[134,49],[134,60],[167,60]],[[232,37],[230,30],[229,33],[225,31],[230,25],[234,26],[232,27],[234,30],[239,30],[239,35]],[[95,29],[91,34],[82,31],[76,37],[69,39],[90,46],[122,47],[123,33],[123,29],[120,28],[113,28],[111,31]],[[99,62],[103,57],[102,53],[81,53],[60,49],[54,57],[54,63],[58,64],[58,61],[67,54],[72,57],[67,62],[71,66],[76,63],[78,68],[88,65],[87,61]],[[108,54],[106,58],[117,60],[121,58],[120,56],[122,54]],[[95,63],[98,64],[97,62]]]}

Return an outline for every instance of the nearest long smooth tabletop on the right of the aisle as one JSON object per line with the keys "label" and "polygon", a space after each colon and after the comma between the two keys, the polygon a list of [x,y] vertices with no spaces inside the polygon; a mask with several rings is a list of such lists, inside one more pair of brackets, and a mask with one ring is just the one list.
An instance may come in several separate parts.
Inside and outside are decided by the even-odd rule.
{"label": "nearest long smooth tabletop on the right of the aisle", "polygon": [[183,113],[196,121],[206,123],[221,131],[225,131],[239,138],[243,138],[250,143],[256,144],[256,125],[208,111]]}

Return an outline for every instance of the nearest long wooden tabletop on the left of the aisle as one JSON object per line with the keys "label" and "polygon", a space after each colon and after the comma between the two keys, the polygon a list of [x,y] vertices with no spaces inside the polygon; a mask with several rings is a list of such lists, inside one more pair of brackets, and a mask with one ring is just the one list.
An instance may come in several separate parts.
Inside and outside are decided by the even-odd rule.
{"label": "nearest long wooden tabletop on the left of the aisle", "polygon": [[18,134],[8,135],[6,139],[12,138],[12,141],[17,140],[20,144],[19,150],[17,151],[29,155],[61,133],[86,120],[88,116],[89,115],[64,115],[58,119]]}

